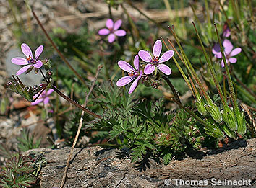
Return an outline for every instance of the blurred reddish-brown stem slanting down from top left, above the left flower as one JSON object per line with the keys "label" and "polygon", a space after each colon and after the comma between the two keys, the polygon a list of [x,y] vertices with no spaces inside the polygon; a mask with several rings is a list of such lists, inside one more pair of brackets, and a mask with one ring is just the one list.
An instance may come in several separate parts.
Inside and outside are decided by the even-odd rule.
{"label": "blurred reddish-brown stem slanting down from top left, above the left flower", "polygon": [[56,52],[59,54],[59,56],[61,57],[62,61],[64,61],[64,63],[66,63],[66,65],[72,70],[72,72],[75,74],[75,76],[77,76],[78,79],[80,79],[80,81],[82,82],[82,84],[86,87],[88,87],[85,83],[85,80],[82,79],[82,77],[79,75],[79,73],[77,73],[77,71],[74,70],[74,68],[72,68],[72,66],[70,65],[70,63],[67,61],[67,59],[64,57],[64,55],[61,53],[61,51],[57,48],[56,44],[54,43],[53,40],[51,40],[51,37],[48,35],[48,33],[46,32],[46,29],[43,27],[43,24],[41,24],[40,20],[38,19],[37,15],[35,14],[35,12],[33,11],[33,9],[31,9],[33,16],[35,17],[36,21],[38,22],[39,26],[41,27],[41,29],[43,30],[44,34],[46,35],[46,37],[48,38],[49,42],[51,42],[51,45],[54,47],[54,49],[56,50]]}

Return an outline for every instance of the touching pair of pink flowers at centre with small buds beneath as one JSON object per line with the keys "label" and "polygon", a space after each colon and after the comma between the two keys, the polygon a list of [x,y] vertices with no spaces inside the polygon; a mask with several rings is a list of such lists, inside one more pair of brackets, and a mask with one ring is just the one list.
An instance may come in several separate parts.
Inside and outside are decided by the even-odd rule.
{"label": "touching pair of pink flowers at centre with small buds beneath", "polygon": [[[153,55],[145,50],[140,50],[138,52],[138,55],[135,55],[135,59],[133,61],[133,64],[135,68],[133,68],[129,63],[126,61],[120,60],[118,62],[119,67],[126,71],[128,73],[128,76],[124,76],[119,81],[116,82],[117,86],[125,86],[135,80],[132,85],[129,88],[129,94],[131,94],[135,88],[137,87],[137,84],[139,83],[139,80],[147,77],[146,75],[150,75],[153,72],[157,73],[157,71],[161,71],[161,73],[164,73],[166,75],[171,74],[171,68],[163,64],[163,62],[166,62],[174,56],[174,51],[168,50],[163,55],[161,55],[162,51],[162,42],[161,40],[156,40],[155,44],[153,45]],[[146,63],[145,66],[140,66],[140,59]],[[144,79],[142,79],[142,82]],[[158,81],[153,82],[152,86],[157,87]]]}

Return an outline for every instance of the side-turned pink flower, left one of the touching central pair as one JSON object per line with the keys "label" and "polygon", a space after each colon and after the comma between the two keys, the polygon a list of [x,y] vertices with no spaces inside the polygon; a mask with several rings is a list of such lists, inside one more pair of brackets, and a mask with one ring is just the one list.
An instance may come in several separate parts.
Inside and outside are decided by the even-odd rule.
{"label": "side-turned pink flower, left one of the touching central pair", "polygon": [[128,73],[128,76],[124,76],[121,79],[119,79],[119,81],[116,82],[116,86],[125,86],[127,84],[129,84],[130,82],[132,82],[135,78],[135,81],[133,81],[132,85],[129,88],[129,94],[132,93],[132,91],[135,90],[138,81],[140,80],[143,71],[140,70],[140,60],[139,60],[139,56],[136,55],[135,59],[133,61],[133,65],[135,66],[135,68],[133,68],[129,63],[127,63],[126,61],[122,61],[120,60],[118,62],[118,65],[121,69],[123,69],[124,71],[126,71]]}

